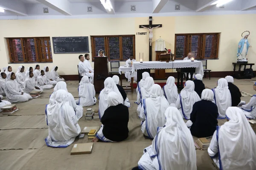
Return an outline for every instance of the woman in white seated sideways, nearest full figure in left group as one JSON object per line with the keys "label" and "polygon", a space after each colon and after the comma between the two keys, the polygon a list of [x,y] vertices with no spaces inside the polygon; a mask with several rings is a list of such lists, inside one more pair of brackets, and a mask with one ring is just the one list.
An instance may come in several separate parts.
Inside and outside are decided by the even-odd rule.
{"label": "woman in white seated sideways, nearest full figure in left group", "polygon": [[32,96],[23,92],[15,79],[15,73],[8,73],[4,87],[7,100],[11,103],[20,103],[32,99]]}

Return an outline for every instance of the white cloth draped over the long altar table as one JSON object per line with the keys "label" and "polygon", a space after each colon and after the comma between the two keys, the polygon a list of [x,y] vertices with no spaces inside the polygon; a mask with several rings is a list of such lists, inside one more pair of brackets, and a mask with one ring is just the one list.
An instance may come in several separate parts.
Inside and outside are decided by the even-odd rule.
{"label": "white cloth draped over the long altar table", "polygon": [[172,68],[189,68],[194,67],[196,74],[201,74],[204,76],[204,68],[203,63],[201,61],[194,61],[191,60],[175,60],[174,62],[160,62],[160,61],[143,61],[140,62],[133,62],[132,63],[132,70],[131,70],[131,77],[135,77],[136,72],[135,70],[140,69],[172,69]]}

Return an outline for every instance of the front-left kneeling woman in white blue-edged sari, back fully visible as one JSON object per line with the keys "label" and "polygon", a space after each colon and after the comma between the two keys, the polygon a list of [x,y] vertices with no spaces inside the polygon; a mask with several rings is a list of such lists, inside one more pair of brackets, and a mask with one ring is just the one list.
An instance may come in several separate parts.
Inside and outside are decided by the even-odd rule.
{"label": "front-left kneeling woman in white blue-edged sari, back fully visible", "polygon": [[49,134],[45,142],[49,147],[68,147],[81,133],[76,113],[64,90],[51,95],[46,108],[46,120]]}

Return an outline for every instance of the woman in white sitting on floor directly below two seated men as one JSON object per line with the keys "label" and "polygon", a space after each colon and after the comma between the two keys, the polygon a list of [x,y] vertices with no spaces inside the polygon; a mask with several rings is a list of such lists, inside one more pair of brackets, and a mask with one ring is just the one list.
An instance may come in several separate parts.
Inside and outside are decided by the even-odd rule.
{"label": "woman in white sitting on floor directly below two seated men", "polygon": [[90,83],[87,76],[84,76],[79,83],[79,99],[76,100],[76,104],[82,107],[95,105],[97,102],[95,94],[94,85]]}

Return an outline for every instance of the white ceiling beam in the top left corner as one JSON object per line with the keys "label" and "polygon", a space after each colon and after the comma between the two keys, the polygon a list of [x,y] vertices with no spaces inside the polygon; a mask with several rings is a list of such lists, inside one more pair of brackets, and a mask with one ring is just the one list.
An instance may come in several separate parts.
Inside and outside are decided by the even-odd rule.
{"label": "white ceiling beam in the top left corner", "polygon": [[28,16],[25,4],[19,1],[0,0],[0,7],[15,12],[17,15]]}

